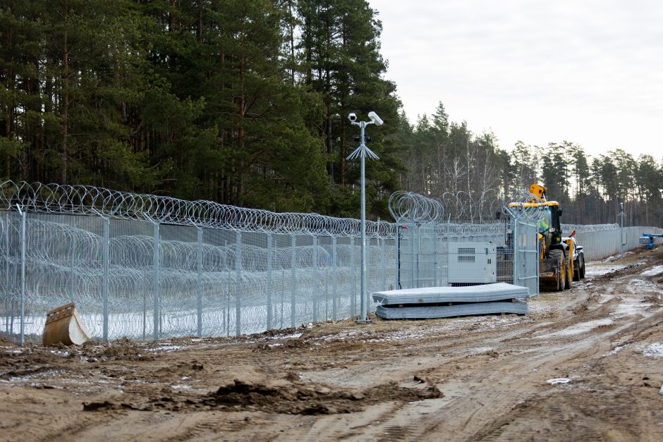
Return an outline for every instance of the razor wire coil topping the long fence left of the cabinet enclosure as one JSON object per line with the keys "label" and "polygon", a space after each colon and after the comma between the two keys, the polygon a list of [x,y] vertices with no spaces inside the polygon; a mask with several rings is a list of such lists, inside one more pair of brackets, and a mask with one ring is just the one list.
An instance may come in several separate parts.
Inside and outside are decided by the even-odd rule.
{"label": "razor wire coil topping the long fence left of the cabinet enclosure", "polygon": [[[18,206],[33,213],[101,215],[231,231],[343,237],[360,235],[358,219],[312,213],[277,213],[88,185],[5,181],[0,184],[0,204],[7,209]],[[396,228],[387,221],[366,221],[366,235],[368,238],[394,238]]]}

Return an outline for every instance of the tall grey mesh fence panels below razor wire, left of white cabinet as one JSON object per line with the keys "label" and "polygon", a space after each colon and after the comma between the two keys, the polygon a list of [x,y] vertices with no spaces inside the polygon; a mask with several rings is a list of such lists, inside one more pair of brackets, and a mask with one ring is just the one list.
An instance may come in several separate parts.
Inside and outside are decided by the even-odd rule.
{"label": "tall grey mesh fence panels below razor wire, left of white cabinet", "polygon": [[[20,317],[26,335],[40,334],[47,310],[71,301],[101,339],[239,335],[358,314],[354,237],[18,211],[2,214],[0,235],[8,334],[20,333]],[[370,238],[369,290],[394,286],[393,243]]]}

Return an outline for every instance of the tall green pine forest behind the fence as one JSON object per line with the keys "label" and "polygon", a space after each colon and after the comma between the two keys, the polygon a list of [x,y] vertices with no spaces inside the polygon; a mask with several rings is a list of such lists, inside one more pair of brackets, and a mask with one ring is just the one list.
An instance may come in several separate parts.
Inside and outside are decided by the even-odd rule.
{"label": "tall green pine forest behind the fence", "polygon": [[[358,145],[371,126],[367,208],[420,192],[485,220],[544,183],[565,223],[663,225],[663,162],[573,140],[499,145],[449,121],[414,123],[364,0],[1,0],[0,182],[85,184],[272,211],[358,216]],[[436,97],[437,98],[437,97]]]}

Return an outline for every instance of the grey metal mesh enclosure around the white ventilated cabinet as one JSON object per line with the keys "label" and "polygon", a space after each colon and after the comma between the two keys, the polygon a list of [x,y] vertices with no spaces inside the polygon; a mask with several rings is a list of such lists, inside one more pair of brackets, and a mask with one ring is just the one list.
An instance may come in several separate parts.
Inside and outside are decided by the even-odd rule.
{"label": "grey metal mesh enclosure around the white ventilated cabinet", "polygon": [[506,282],[538,293],[537,230],[519,219],[493,223],[397,223],[399,288]]}

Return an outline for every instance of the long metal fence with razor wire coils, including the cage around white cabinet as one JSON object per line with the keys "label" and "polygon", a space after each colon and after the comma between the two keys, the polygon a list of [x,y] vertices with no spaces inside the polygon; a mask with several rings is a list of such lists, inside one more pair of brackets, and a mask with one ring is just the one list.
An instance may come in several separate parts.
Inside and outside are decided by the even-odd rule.
{"label": "long metal fence with razor wire coils, including the cage around white cabinet", "polygon": [[[454,284],[449,263],[466,259],[458,245],[481,243],[494,245],[497,281],[538,293],[533,223],[444,223],[437,204],[396,195],[398,223],[367,222],[368,292]],[[0,325],[21,342],[71,301],[103,340],[239,335],[359,314],[356,219],[11,181],[0,184],[0,207]]]}

